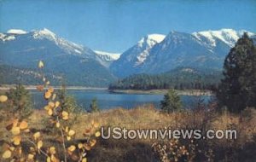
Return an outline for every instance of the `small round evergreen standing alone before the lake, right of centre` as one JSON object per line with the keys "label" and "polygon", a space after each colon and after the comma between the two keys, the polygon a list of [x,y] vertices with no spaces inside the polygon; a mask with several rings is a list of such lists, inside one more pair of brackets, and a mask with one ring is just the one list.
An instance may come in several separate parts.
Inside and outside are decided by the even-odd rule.
{"label": "small round evergreen standing alone before the lake, right of centre", "polygon": [[160,105],[161,109],[166,113],[172,113],[182,108],[182,102],[175,90],[169,90]]}

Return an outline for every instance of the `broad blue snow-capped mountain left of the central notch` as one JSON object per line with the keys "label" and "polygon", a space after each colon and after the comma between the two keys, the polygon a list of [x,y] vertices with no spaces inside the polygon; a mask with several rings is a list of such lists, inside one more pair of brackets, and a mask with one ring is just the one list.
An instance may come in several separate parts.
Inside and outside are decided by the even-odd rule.
{"label": "broad blue snow-capped mountain left of the central notch", "polygon": [[39,60],[45,62],[44,70],[61,74],[67,84],[107,86],[115,79],[93,50],[48,29],[0,33],[0,64],[37,68]]}

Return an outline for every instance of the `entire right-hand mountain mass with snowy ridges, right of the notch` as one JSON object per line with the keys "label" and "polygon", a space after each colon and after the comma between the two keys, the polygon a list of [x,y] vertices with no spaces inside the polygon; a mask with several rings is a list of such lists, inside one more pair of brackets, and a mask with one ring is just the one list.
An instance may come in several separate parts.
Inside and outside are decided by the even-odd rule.
{"label": "entire right-hand mountain mass with snowy ridges, right of the notch", "polygon": [[[176,67],[221,69],[229,53],[244,30],[221,29],[207,32],[170,32],[163,40],[148,45],[148,38],[113,61],[110,69],[118,77],[134,73],[167,72]],[[252,32],[247,32],[253,37]],[[149,39],[150,40],[150,39]],[[146,44],[138,45],[138,44]],[[140,48],[143,47],[143,48]],[[148,47],[148,48],[147,48]]]}

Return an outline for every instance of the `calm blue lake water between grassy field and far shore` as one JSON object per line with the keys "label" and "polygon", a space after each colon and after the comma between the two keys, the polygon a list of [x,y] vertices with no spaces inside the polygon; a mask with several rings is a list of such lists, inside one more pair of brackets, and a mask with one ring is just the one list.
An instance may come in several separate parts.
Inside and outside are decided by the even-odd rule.
{"label": "calm blue lake water between grassy field and far shore", "polygon": [[[37,108],[44,107],[43,93],[32,90],[32,99]],[[101,109],[110,109],[115,107],[133,108],[143,104],[154,104],[155,107],[160,107],[160,101],[164,95],[140,95],[140,94],[117,94],[110,93],[108,90],[67,90],[69,95],[73,95],[81,107],[90,107],[90,102],[93,98],[97,99],[98,106]],[[211,99],[211,96],[202,96],[205,102]],[[183,107],[189,108],[195,105],[199,100],[198,96],[181,95]]]}

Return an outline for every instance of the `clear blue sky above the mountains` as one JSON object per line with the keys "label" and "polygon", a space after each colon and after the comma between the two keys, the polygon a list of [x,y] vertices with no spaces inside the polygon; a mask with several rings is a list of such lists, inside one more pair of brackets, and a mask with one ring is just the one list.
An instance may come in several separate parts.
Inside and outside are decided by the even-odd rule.
{"label": "clear blue sky above the mountains", "polygon": [[123,52],[149,33],[256,32],[256,1],[0,0],[0,32],[44,27],[91,49]]}

